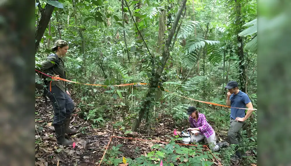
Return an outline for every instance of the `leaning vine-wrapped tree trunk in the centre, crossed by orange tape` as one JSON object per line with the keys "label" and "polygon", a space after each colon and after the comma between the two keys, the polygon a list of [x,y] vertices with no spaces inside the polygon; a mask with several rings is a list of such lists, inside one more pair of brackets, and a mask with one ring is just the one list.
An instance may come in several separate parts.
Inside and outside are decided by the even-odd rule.
{"label": "leaning vine-wrapped tree trunk in the centre, crossed by orange tape", "polygon": [[169,58],[169,54],[170,54],[169,53],[169,46],[171,44],[171,40],[172,40],[174,33],[176,31],[176,28],[178,26],[178,22],[179,22],[181,15],[182,15],[182,11],[185,8],[186,2],[187,2],[187,0],[182,1],[182,4],[178,10],[178,13],[175,17],[174,22],[173,22],[173,26],[171,28],[171,31],[169,32],[168,38],[167,38],[166,43],[165,43],[164,51],[162,53],[161,65],[158,65],[158,68],[156,71],[152,70],[152,78],[150,78],[149,91],[145,97],[145,101],[143,102],[143,106],[142,106],[141,110],[139,111],[139,116],[136,117],[134,124],[132,125],[132,131],[137,131],[137,129],[139,128],[139,125],[141,124],[141,120],[143,118],[144,113],[150,110],[151,101],[152,101],[152,99],[154,99],[153,94],[158,89],[159,80],[162,76],[164,67],[165,67],[166,62]]}

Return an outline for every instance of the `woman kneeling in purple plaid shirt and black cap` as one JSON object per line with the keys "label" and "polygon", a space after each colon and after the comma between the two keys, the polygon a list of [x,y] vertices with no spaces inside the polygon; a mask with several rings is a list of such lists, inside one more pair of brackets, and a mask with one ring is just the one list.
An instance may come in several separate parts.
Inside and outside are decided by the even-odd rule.
{"label": "woman kneeling in purple plaid shirt and black cap", "polygon": [[215,132],[206,121],[204,114],[199,113],[195,107],[189,107],[187,111],[187,115],[190,115],[189,122],[191,124],[191,128],[188,128],[188,130],[194,133],[194,135],[191,136],[191,142],[198,142],[206,138],[210,149],[213,151],[218,151],[220,147],[229,147],[227,142],[216,143]]}

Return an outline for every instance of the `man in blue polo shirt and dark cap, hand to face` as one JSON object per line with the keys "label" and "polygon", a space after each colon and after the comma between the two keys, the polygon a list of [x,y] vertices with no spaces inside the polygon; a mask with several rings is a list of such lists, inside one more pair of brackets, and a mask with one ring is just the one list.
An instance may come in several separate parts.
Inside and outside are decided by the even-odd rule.
{"label": "man in blue polo shirt and dark cap, hand to face", "polygon": [[[248,110],[245,113],[245,109],[239,108],[247,107],[249,109],[253,109],[253,105],[249,96],[238,89],[238,84],[236,81],[229,81],[225,88],[228,89],[226,106],[232,107],[230,108],[230,127],[227,136],[230,144],[238,145],[239,142],[237,138],[240,136],[239,130],[244,125],[246,119],[248,119],[253,113],[253,110]],[[236,155],[231,158],[231,161],[237,164],[238,161],[242,158],[242,155],[239,150],[237,150],[235,154]]]}

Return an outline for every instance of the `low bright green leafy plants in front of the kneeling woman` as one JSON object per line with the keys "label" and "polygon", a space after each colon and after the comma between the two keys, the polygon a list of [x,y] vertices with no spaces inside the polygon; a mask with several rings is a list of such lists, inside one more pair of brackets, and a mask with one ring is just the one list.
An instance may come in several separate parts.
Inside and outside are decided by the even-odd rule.
{"label": "low bright green leafy plants in front of the kneeling woman", "polygon": [[[166,145],[155,144],[151,147],[151,151],[147,153],[146,156],[141,155],[138,158],[126,158],[126,156],[121,156],[122,152],[119,151],[119,148],[122,145],[120,144],[116,147],[113,146],[112,149],[108,151],[103,161],[106,164],[115,166],[122,163],[123,157],[126,158],[130,166],[156,166],[161,160],[165,166],[210,166],[214,164],[212,162],[215,160],[214,157],[210,151],[205,150],[202,145],[182,147],[175,144],[175,140],[180,139],[181,138],[173,139]],[[214,152],[213,154],[218,155],[219,153]]]}

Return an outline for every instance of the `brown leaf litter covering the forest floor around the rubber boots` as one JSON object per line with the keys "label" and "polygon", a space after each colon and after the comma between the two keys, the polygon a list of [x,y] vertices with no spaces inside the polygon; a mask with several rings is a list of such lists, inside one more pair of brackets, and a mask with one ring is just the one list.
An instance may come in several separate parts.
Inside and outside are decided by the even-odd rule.
{"label": "brown leaf litter covering the forest floor around the rubber boots", "polygon": [[[86,129],[82,129],[81,132],[78,130],[72,135],[65,136],[75,142],[76,146],[74,148],[72,145],[59,145],[56,142],[54,127],[52,126],[52,106],[49,100],[45,103],[45,100],[41,96],[36,96],[36,165],[99,165],[98,162],[101,160],[112,135],[129,137],[128,135],[124,135],[124,132],[120,129],[113,129],[114,122],[107,122],[102,128],[93,128],[90,122],[83,118],[79,118],[78,111],[80,110],[76,109],[72,115],[70,127],[81,129],[86,126]],[[175,126],[175,121],[171,117],[165,115],[159,115],[157,119],[158,122],[151,131],[151,133],[154,133],[153,135],[144,134],[143,136],[141,134],[135,138],[170,142],[170,138],[165,135],[173,135],[174,128],[177,128],[177,126]],[[226,140],[226,135],[226,132],[222,134],[218,133],[217,139],[219,141]],[[182,143],[182,141],[178,143]],[[134,159],[141,155],[146,155],[146,153],[151,151],[150,148],[158,143],[113,138],[108,150],[112,146],[117,146],[118,144],[123,144],[123,146],[120,147],[123,156]],[[218,163],[215,159],[212,162]],[[104,165],[104,163],[101,165]]]}

